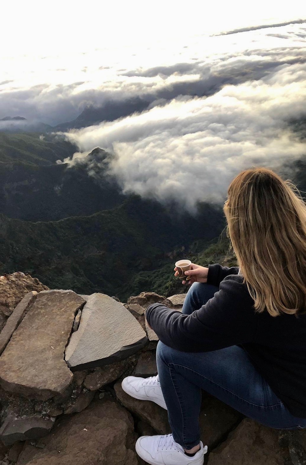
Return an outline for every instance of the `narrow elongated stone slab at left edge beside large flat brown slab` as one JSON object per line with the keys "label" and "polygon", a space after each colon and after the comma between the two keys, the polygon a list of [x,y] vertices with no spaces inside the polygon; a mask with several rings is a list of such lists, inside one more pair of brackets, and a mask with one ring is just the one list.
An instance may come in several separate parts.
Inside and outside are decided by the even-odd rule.
{"label": "narrow elongated stone slab at left edge beside large flat brown slab", "polygon": [[11,316],[7,319],[6,325],[0,332],[0,355],[6,348],[8,341],[11,339],[11,336],[17,326],[20,324],[20,321],[24,318],[30,306],[32,306],[36,296],[36,291],[28,292],[14,308]]}

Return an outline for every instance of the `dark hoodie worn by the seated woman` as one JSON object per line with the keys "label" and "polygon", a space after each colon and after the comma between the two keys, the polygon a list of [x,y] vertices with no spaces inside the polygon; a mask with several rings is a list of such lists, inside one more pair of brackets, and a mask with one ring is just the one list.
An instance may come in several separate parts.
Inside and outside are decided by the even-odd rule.
{"label": "dark hoodie worn by the seated woman", "polygon": [[287,409],[306,418],[306,315],[256,313],[238,268],[209,265],[207,282],[220,290],[191,315],[148,307],[146,319],[159,339],[182,352],[241,345]]}

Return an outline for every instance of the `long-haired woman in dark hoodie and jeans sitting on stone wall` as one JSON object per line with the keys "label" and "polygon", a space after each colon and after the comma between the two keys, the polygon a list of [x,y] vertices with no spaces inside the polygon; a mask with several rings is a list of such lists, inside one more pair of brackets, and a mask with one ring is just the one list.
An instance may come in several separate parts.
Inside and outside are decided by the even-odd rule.
{"label": "long-haired woman in dark hoodie and jeans sitting on stone wall", "polygon": [[172,434],[137,440],[152,465],[202,465],[201,389],[263,425],[306,427],[306,206],[255,168],[232,181],[224,213],[239,268],[193,265],[182,313],[151,305],[158,376],[122,383],[168,409]]}

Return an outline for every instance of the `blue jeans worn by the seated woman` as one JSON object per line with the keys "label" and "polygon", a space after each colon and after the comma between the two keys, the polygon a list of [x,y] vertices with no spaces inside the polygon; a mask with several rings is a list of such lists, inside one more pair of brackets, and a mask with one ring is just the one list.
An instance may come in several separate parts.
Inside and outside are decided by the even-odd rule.
{"label": "blue jeans worn by the seated woman", "polygon": [[[218,287],[194,283],[182,312],[190,314],[214,297]],[[156,361],[174,440],[185,449],[199,444],[202,391],[259,423],[279,429],[305,428],[256,371],[237,345],[212,352],[180,352],[159,342]]]}

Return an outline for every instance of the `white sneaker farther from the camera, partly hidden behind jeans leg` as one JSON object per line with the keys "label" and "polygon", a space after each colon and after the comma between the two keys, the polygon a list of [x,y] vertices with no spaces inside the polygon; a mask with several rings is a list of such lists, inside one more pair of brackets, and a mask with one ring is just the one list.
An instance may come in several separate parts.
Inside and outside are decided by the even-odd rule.
{"label": "white sneaker farther from the camera, partly hidden behind jeans leg", "polygon": [[124,378],[121,386],[124,392],[135,397],[135,399],[151,400],[167,410],[158,375],[150,376],[150,378],[128,376],[127,378]]}

